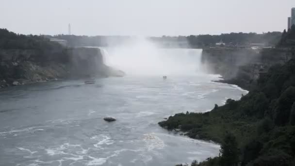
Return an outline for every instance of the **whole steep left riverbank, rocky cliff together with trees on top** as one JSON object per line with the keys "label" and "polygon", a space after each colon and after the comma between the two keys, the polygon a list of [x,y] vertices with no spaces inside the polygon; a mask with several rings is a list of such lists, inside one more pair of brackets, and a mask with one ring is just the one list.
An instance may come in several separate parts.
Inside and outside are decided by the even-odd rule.
{"label": "whole steep left riverbank, rocky cliff together with trees on top", "polygon": [[67,48],[43,35],[0,29],[0,88],[57,79],[123,76],[98,48]]}

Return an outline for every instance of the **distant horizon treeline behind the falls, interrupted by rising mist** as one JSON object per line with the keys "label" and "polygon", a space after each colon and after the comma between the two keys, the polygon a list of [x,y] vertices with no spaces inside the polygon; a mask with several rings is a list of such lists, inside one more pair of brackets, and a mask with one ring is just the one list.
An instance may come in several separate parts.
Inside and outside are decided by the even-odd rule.
{"label": "distant horizon treeline behind the falls, interrupted by rising mist", "polygon": [[[149,37],[148,39],[163,47],[190,47],[203,48],[215,46],[221,40],[231,46],[245,46],[249,43],[263,43],[265,46],[276,46],[281,37],[281,32],[258,33],[224,33],[220,35],[190,35],[190,36],[162,36]],[[77,35],[55,35],[47,36],[68,41],[68,45],[105,47],[119,45],[128,42],[135,37],[132,36],[77,36]]]}

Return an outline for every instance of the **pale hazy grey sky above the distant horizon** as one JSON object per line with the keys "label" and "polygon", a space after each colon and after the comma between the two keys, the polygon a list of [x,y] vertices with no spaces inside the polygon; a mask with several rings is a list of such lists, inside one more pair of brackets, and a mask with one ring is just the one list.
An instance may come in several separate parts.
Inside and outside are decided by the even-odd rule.
{"label": "pale hazy grey sky above the distant horizon", "polygon": [[283,31],[295,0],[0,0],[16,33],[189,35]]}

